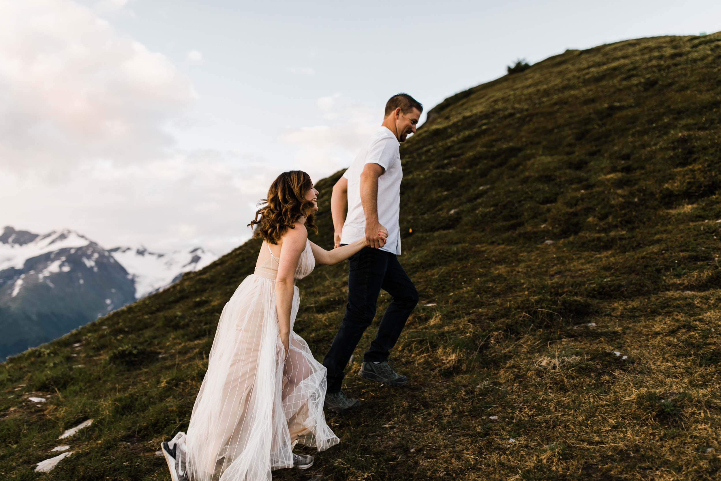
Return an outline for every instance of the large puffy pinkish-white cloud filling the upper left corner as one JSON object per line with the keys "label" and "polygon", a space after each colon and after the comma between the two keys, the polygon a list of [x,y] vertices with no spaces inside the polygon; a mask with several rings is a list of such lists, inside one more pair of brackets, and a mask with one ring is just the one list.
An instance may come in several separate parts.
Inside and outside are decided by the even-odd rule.
{"label": "large puffy pinkish-white cloud filling the upper left corner", "polygon": [[165,127],[197,96],[166,57],[68,0],[0,0],[0,32],[0,169],[57,174],[174,145]]}

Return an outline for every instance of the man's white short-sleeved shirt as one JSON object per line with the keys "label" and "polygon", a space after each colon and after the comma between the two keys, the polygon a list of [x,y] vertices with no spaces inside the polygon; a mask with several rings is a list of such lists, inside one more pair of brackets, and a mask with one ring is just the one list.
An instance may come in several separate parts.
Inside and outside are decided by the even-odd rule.
{"label": "man's white short-sleeved shirt", "polygon": [[378,220],[388,229],[388,239],[381,250],[395,255],[401,253],[399,214],[401,206],[400,144],[386,127],[379,128],[366,141],[343,177],[348,179],[348,216],[343,224],[341,244],[350,244],[366,237],[366,216],[361,204],[361,172],[366,164],[379,164],[386,169],[378,178]]}

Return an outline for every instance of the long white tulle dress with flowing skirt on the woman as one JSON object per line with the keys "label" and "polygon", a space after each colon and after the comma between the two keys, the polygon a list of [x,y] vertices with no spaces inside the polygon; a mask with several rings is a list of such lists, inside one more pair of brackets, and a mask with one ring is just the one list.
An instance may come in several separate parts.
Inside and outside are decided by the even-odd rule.
{"label": "long white tulle dress with flowing skirt on the woman", "polygon": [[[278,261],[271,252],[236,289],[218,321],[185,440],[191,480],[270,480],[271,469],[293,467],[296,443],[323,451],[338,442],[323,413],[326,370],[293,332],[297,287],[287,357],[280,342]],[[314,267],[307,242],[294,277],[304,278]]]}

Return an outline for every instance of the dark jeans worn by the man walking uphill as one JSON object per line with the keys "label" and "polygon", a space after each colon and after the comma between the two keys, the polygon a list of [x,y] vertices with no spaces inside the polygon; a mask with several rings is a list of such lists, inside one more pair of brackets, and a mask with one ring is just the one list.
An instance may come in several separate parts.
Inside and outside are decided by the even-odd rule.
{"label": "dark jeans worn by the man walking uphill", "polygon": [[345,316],[323,359],[323,366],[328,370],[328,392],[340,391],[343,369],[366,327],[371,325],[376,316],[376,302],[381,288],[393,296],[393,300],[383,314],[371,348],[363,355],[365,362],[386,361],[389,350],[396,345],[408,316],[418,303],[418,292],[396,255],[364,247],[349,260]]}

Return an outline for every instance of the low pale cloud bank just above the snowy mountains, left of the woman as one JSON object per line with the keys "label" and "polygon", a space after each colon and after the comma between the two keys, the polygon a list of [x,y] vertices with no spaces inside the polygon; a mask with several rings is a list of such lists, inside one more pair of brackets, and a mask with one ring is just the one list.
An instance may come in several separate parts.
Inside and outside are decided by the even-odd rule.
{"label": "low pale cloud bank just above the snowy mountains, left of the woman", "polygon": [[0,203],[13,206],[0,227],[70,227],[105,247],[203,245],[224,253],[250,237],[246,224],[278,173],[265,159],[208,150],[144,164],[88,163],[62,182],[0,175]]}

